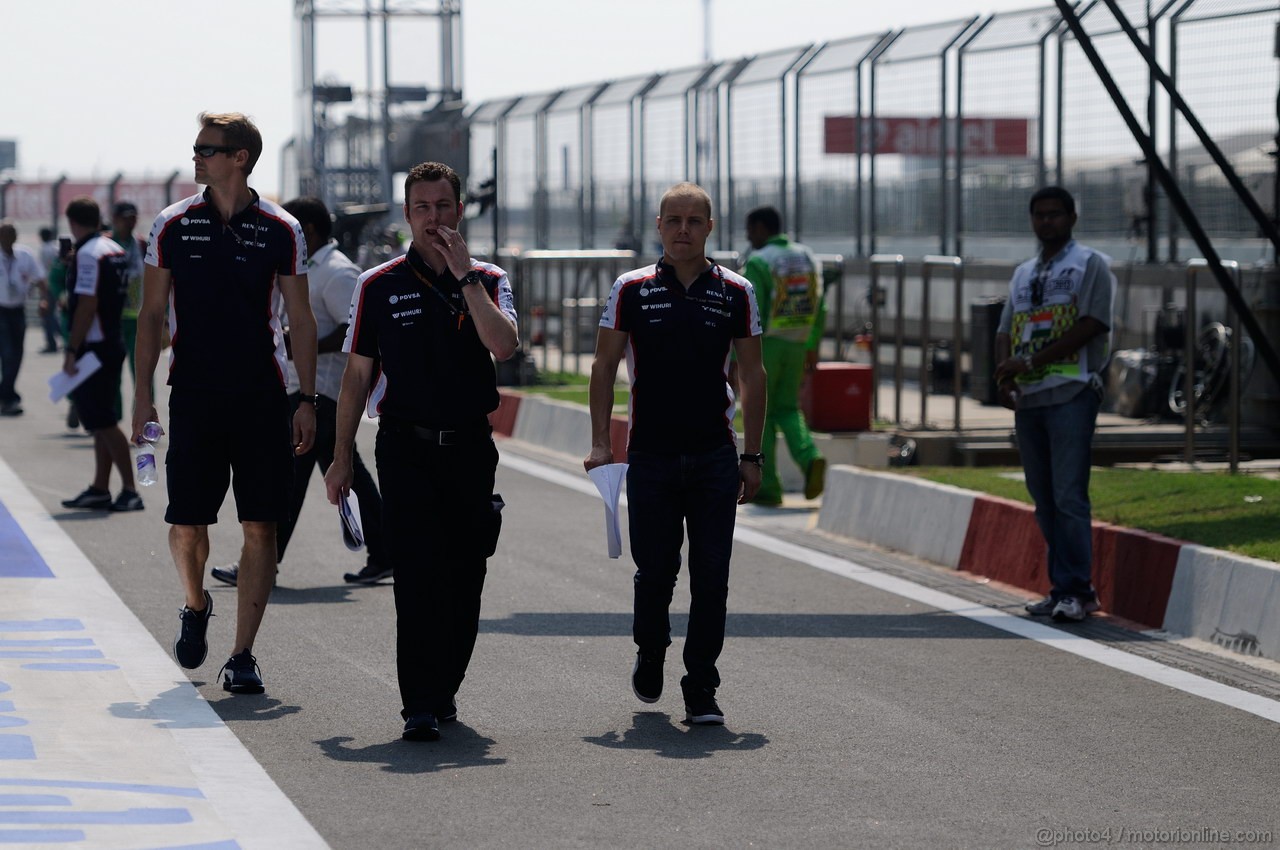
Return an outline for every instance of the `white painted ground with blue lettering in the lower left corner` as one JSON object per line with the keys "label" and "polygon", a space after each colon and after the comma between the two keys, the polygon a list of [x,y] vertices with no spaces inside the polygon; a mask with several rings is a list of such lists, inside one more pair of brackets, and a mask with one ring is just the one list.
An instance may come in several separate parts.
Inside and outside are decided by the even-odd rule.
{"label": "white painted ground with blue lettering in the lower left corner", "polygon": [[[0,759],[0,791],[29,786],[77,794],[74,805],[84,809],[145,801],[156,805],[147,812],[170,818],[134,822],[123,831],[86,828],[81,840],[92,846],[328,847],[3,460],[0,493],[55,576],[0,577],[0,626],[26,629],[38,640],[52,623],[74,623],[78,640],[93,648],[90,657],[104,659],[84,666],[96,667],[92,672],[49,672],[51,666],[41,671],[0,658],[6,708],[24,721],[14,731],[29,737],[35,754]],[[166,534],[159,521],[154,533]],[[174,600],[177,631],[177,576]],[[205,662],[209,673],[212,664],[212,658]],[[147,796],[122,804],[131,794]],[[174,798],[182,808],[173,808]]]}

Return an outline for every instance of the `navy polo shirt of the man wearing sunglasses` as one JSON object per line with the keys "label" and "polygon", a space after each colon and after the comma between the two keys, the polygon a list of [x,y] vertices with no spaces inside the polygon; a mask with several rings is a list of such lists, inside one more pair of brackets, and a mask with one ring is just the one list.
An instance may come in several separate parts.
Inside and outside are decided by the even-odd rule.
{"label": "navy polo shirt of the man wearing sunglasses", "polygon": [[306,274],[307,243],[297,219],[253,192],[252,204],[223,221],[205,189],[156,216],[146,261],[173,275],[172,387],[284,388],[276,275]]}

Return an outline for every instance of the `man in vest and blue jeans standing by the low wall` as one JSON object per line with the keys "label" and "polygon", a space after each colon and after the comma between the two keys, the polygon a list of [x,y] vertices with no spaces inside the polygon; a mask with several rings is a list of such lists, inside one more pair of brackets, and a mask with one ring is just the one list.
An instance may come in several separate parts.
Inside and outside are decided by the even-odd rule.
{"label": "man in vest and blue jeans standing by the low wall", "polygon": [[1089,461],[1116,288],[1110,260],[1071,238],[1075,221],[1066,189],[1032,195],[1041,250],[1014,270],[996,333],[996,384],[1014,411],[1027,490],[1048,547],[1050,594],[1027,611],[1059,622],[1098,609]]}

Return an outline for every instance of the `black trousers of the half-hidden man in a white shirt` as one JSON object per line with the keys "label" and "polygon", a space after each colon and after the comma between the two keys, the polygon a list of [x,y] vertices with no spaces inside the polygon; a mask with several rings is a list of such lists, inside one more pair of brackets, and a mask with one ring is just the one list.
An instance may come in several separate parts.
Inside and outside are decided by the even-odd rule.
{"label": "black trousers of the half-hidden man in a white shirt", "polygon": [[[302,396],[293,393],[289,396],[289,415],[297,412],[302,403]],[[338,439],[338,402],[328,396],[316,396],[316,440],[311,451],[301,457],[293,457],[293,502],[289,506],[289,517],[284,522],[275,525],[275,562],[284,561],[284,550],[293,536],[293,529],[298,524],[298,515],[302,512],[302,503],[307,498],[307,484],[311,483],[311,472],[320,466],[320,475],[329,471],[333,465],[333,447]],[[360,530],[365,535],[365,550],[369,553],[369,563],[387,563],[387,554],[383,550],[383,497],[378,493],[378,484],[369,474],[369,467],[361,460],[360,452],[355,447],[351,449],[351,469],[355,480],[351,484],[352,492],[360,501]],[[334,525],[337,525],[337,518]]]}

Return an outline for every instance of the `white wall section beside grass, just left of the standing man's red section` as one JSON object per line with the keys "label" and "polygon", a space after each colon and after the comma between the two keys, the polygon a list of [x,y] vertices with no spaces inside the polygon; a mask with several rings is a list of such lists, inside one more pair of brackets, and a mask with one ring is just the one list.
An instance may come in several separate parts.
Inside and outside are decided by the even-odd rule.
{"label": "white wall section beside grass, just left of the standing man's red section", "polygon": [[945,484],[835,466],[818,527],[954,567],[973,503],[973,493]]}

